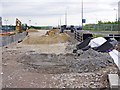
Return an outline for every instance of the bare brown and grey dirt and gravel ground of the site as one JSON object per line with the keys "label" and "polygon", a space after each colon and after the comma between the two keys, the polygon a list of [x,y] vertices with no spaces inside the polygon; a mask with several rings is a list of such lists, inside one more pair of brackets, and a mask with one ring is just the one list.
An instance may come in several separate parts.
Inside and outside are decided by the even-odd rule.
{"label": "bare brown and grey dirt and gravel ground of the site", "polygon": [[[44,35],[45,30],[29,36]],[[3,88],[109,88],[107,75],[118,73],[108,53],[89,49],[72,53],[79,43],[26,45],[14,43],[2,49]],[[28,38],[28,36],[26,37]],[[25,39],[26,39],[25,38]]]}

